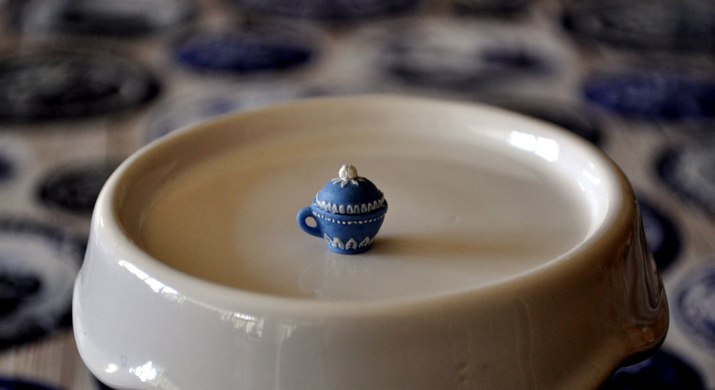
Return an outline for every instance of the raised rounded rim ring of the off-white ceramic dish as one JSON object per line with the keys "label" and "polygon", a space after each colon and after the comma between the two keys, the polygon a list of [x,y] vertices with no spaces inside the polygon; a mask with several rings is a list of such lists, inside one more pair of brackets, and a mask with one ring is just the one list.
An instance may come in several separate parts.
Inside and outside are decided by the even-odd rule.
{"label": "raised rounded rim ring of the off-white ceramic dish", "polygon": [[[594,161],[596,161],[597,164],[600,164],[603,169],[603,174],[608,174],[613,183],[612,187],[608,187],[608,191],[611,192],[610,199],[608,200],[608,215],[603,217],[603,221],[598,224],[595,231],[588,234],[586,239],[583,239],[565,254],[557,256],[555,259],[536,266],[523,274],[518,274],[505,281],[500,281],[498,284],[476,286],[466,291],[450,292],[449,294],[439,294],[437,296],[335,301],[247,291],[186,274],[183,271],[164,264],[159,259],[154,258],[144,251],[139,244],[132,241],[129,232],[122,224],[119,209],[122,206],[121,197],[126,190],[127,180],[129,180],[127,177],[131,173],[132,168],[135,168],[136,164],[141,163],[142,160],[149,158],[152,154],[158,153],[158,150],[166,146],[167,143],[170,144],[180,141],[180,139],[187,136],[187,134],[203,131],[217,123],[230,122],[237,117],[262,115],[285,109],[296,109],[306,104],[326,104],[326,102],[330,101],[337,102],[337,104],[358,106],[365,101],[374,103],[376,100],[379,100],[382,104],[432,104],[445,107],[471,107],[477,110],[501,113],[500,115],[511,116],[513,118],[519,117],[521,121],[538,124],[540,131],[546,131],[554,136],[555,139],[580,148],[580,151],[588,154],[592,159],[595,159]],[[523,287],[523,281],[526,279],[550,279],[552,276],[549,270],[553,269],[553,267],[591,267],[594,260],[590,258],[598,258],[598,256],[586,256],[586,254],[603,251],[603,249],[599,248],[603,240],[609,242],[613,240],[625,242],[626,237],[631,232],[633,221],[635,221],[637,217],[636,196],[631,184],[620,167],[601,151],[601,149],[598,149],[597,146],[555,124],[473,101],[435,99],[395,94],[361,94],[300,99],[259,109],[225,114],[215,119],[204,121],[201,124],[184,126],[182,129],[172,131],[150,142],[125,159],[104,184],[98,196],[92,216],[90,239],[99,239],[99,237],[108,239],[109,245],[112,245],[112,251],[115,253],[115,259],[131,259],[118,260],[119,266],[131,272],[139,279],[152,279],[152,283],[158,283],[159,286],[166,286],[184,299],[194,300],[199,304],[214,302],[223,307],[241,307],[242,311],[250,307],[256,310],[260,308],[262,313],[273,312],[280,313],[281,315],[290,313],[296,316],[370,316],[384,315],[387,313],[398,315],[418,312],[425,306],[434,307],[433,305],[435,304],[449,304],[461,300],[494,299],[498,294],[493,293],[499,293],[500,291],[504,292],[503,296],[508,296],[508,289],[517,288],[518,286]],[[580,261],[579,258],[581,258]],[[147,283],[149,282],[147,281]],[[486,291],[486,293],[484,291]]]}

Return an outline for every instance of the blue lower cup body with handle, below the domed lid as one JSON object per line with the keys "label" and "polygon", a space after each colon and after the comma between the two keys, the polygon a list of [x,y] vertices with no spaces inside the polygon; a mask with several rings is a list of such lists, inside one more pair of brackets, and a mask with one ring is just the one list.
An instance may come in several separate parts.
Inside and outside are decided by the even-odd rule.
{"label": "blue lower cup body with handle, below the domed lid", "polygon": [[[334,214],[320,209],[315,201],[298,212],[297,222],[307,234],[325,239],[327,249],[340,254],[359,254],[373,246],[385,220],[388,204],[370,214]],[[315,226],[306,219],[315,219]]]}

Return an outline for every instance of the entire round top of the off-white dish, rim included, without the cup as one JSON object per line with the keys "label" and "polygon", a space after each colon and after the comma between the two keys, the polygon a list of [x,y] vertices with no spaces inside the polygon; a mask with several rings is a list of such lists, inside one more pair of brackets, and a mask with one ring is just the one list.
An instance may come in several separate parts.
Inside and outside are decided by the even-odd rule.
{"label": "entire round top of the off-white dish, rim included, without the cup", "polygon": [[[295,223],[345,163],[390,204],[373,249],[354,256]],[[370,301],[558,271],[608,229],[620,178],[596,148],[545,123],[488,106],[357,96],[171,134],[127,160],[105,197],[129,239],[184,274],[272,296]]]}

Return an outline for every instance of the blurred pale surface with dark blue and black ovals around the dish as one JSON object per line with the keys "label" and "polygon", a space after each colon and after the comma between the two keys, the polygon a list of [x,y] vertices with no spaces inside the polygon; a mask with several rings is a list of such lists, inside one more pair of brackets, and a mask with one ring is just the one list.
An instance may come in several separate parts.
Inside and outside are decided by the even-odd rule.
{"label": "blurred pale surface with dark blue and black ovals around the dish", "polygon": [[502,106],[611,156],[671,326],[603,389],[715,389],[711,0],[0,0],[0,390],[107,389],[71,291],[123,159],[222,114],[368,93]]}

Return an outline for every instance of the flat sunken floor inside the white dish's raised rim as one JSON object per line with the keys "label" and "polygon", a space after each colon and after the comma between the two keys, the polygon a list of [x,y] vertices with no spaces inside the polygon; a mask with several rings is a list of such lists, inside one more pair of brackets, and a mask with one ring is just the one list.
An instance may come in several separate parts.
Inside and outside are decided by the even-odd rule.
{"label": "flat sunken floor inside the white dish's raised rim", "polygon": [[[581,190],[600,187],[583,176],[562,182],[550,163],[528,152],[508,157],[415,134],[393,154],[407,138],[398,129],[359,134],[365,142],[342,133],[332,137],[336,145],[305,153],[303,138],[320,139],[320,126],[300,138],[272,130],[252,141],[250,153],[236,148],[197,161],[158,184],[156,198],[138,211],[135,240],[164,264],[238,289],[393,299],[466,291],[526,273],[581,244],[589,225],[601,223],[591,215],[606,214],[605,204],[589,204]],[[374,143],[380,134],[382,142]],[[465,142],[472,137],[465,134]],[[320,239],[296,229],[291,215],[310,204],[325,181],[320,174],[330,178],[340,166],[333,161],[346,155],[395,199],[373,249],[352,259],[327,253]]]}

